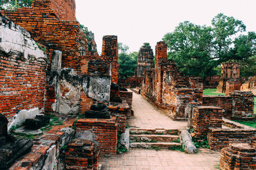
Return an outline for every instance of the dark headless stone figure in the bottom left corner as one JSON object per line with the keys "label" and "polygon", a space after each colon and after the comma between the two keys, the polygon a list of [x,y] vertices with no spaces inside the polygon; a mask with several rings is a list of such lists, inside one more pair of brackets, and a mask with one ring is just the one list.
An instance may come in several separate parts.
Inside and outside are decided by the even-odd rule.
{"label": "dark headless stone figure in the bottom left corner", "polygon": [[0,169],[7,169],[13,162],[28,153],[33,146],[31,139],[16,139],[8,134],[8,120],[0,113]]}

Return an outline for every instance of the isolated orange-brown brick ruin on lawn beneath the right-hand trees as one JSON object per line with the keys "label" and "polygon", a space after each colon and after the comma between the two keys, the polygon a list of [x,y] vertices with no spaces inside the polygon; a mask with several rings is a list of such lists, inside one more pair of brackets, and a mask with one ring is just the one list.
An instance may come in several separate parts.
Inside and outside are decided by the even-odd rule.
{"label": "isolated orange-brown brick ruin on lawn beneath the right-hand trees", "polygon": [[221,78],[216,92],[228,95],[234,90],[240,90],[240,66],[236,62],[224,62],[221,67]]}

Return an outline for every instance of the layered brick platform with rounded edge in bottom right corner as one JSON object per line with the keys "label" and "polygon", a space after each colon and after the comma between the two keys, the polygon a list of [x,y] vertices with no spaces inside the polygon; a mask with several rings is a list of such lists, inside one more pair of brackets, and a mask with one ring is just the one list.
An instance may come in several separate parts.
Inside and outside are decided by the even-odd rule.
{"label": "layered brick platform with rounded edge in bottom right corner", "polygon": [[256,169],[256,150],[247,143],[230,144],[221,150],[220,169]]}

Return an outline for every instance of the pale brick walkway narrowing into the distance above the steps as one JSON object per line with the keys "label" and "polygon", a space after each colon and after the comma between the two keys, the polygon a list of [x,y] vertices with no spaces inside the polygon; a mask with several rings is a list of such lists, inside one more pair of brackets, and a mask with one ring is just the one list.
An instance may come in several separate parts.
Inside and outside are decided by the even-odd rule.
{"label": "pale brick walkway narrowing into the distance above the steps", "polygon": [[186,129],[188,124],[187,122],[173,121],[136,93],[133,93],[132,110],[134,111],[134,117],[129,120],[131,127],[141,129]]}

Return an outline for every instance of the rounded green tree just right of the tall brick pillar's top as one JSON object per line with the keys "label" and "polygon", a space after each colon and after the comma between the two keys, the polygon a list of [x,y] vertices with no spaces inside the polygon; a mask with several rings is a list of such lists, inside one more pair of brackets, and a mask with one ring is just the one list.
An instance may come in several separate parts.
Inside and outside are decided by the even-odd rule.
{"label": "rounded green tree just right of the tall brick pillar's top", "polygon": [[214,74],[210,69],[215,65],[215,60],[211,59],[213,39],[211,27],[188,21],[180,23],[163,38],[170,50],[168,59],[175,60],[183,73],[201,77]]}

